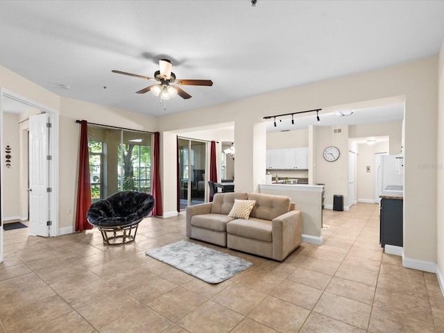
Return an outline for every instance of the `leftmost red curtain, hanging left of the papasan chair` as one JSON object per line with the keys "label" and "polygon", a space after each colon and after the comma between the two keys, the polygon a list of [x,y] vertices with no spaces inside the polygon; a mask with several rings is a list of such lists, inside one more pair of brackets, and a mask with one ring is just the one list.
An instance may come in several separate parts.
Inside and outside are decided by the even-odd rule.
{"label": "leftmost red curtain, hanging left of the papasan chair", "polygon": [[91,205],[91,184],[89,180],[88,126],[80,122],[80,152],[78,156],[78,185],[76,205],[76,231],[92,229],[86,213]]}

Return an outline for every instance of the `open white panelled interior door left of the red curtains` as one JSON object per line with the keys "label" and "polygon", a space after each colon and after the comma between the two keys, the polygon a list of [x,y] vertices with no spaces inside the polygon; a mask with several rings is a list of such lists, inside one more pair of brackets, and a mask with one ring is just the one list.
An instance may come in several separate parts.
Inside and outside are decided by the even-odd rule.
{"label": "open white panelled interior door left of the red curtains", "polygon": [[49,236],[49,114],[29,117],[29,233]]}

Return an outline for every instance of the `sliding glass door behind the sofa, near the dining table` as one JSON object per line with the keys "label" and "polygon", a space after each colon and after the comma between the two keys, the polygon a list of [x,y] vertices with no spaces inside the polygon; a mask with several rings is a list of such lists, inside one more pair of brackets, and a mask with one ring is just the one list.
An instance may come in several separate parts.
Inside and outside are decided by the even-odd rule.
{"label": "sliding glass door behind the sofa, near the dining table", "polygon": [[207,143],[178,138],[180,210],[205,202]]}

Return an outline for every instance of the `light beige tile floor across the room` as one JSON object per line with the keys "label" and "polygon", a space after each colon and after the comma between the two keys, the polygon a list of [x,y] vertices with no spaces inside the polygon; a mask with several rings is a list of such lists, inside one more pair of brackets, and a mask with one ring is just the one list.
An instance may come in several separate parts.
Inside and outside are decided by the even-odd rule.
{"label": "light beige tile floor across the room", "polygon": [[[379,247],[377,205],[324,210],[322,246],[284,262],[204,244],[253,262],[206,284],[144,255],[185,237],[185,216],[145,219],[134,244],[103,246],[89,230],[3,233],[1,332],[444,332],[436,275]],[[202,243],[201,243],[202,244]]]}

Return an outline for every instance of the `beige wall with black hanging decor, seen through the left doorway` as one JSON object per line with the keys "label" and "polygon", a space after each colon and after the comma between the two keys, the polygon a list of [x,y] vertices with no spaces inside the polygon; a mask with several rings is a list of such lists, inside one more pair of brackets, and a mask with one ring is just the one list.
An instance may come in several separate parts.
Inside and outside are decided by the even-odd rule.
{"label": "beige wall with black hanging decor, seen through the left doorway", "polygon": [[20,214],[20,151],[19,144],[19,114],[4,113],[3,114],[3,147],[1,147],[1,155],[3,161],[6,161],[5,147],[10,146],[11,158],[10,167],[6,167],[3,162],[3,180],[1,187],[4,191],[3,196],[3,219],[21,219]]}

